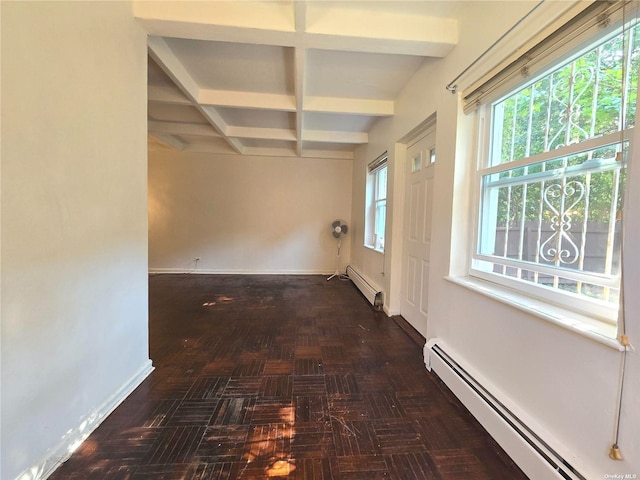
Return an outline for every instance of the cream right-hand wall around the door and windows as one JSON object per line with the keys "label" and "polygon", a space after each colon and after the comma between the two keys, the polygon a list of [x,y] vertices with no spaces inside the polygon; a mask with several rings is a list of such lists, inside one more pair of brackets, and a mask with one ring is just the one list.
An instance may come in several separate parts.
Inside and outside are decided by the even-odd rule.
{"label": "cream right-hand wall around the door and windows", "polygon": [[[402,182],[398,172],[402,172],[399,165],[402,148],[396,142],[430,115],[437,114],[430,312],[428,324],[415,327],[427,338],[442,339],[463,365],[480,372],[500,398],[529,418],[541,432],[546,432],[553,446],[587,478],[606,478],[604,475],[619,473],[640,475],[638,354],[628,354],[620,437],[624,461],[616,462],[609,459],[608,453],[613,441],[621,354],[445,280],[450,273],[463,272],[468,256],[470,185],[467,173],[475,158],[472,118],[459,112],[459,96],[445,91],[445,85],[536,3],[462,3],[459,45],[446,59],[423,65],[396,99],[395,116],[379,121],[369,134],[370,143],[357,150],[352,202],[356,230],[364,224],[367,162],[380,151],[388,150],[394,155],[389,158],[390,224],[385,274],[380,273],[381,259],[362,247],[360,238],[353,238],[352,264],[384,285],[389,299],[387,309],[397,313],[402,212]],[[557,8],[563,2],[554,3],[555,6],[547,7]],[[488,25],[491,28],[486,28]],[[529,33],[522,30],[522,39]],[[520,40],[511,37],[508,49],[513,49]],[[640,162],[638,153],[633,161]],[[638,179],[636,188],[626,208],[629,238],[640,234],[640,189],[637,187],[640,175],[635,178]],[[625,257],[625,266],[627,290],[633,291],[629,285],[640,282],[640,254],[630,251]],[[640,300],[637,295],[631,297],[628,298],[627,323],[631,341],[637,345],[640,343]]]}

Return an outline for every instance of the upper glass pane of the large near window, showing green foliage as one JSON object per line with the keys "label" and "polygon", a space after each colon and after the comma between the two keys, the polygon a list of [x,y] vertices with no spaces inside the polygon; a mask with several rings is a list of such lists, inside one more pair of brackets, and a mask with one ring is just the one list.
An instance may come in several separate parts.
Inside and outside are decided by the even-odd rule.
{"label": "upper glass pane of the large near window, showing green foliage", "polygon": [[639,32],[640,26],[636,26],[620,33],[496,103],[490,164],[511,162],[633,126]]}

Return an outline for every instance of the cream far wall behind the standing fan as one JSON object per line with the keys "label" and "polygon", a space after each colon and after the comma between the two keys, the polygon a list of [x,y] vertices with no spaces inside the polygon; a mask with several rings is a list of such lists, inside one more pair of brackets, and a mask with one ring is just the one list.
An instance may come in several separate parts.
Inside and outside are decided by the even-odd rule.
{"label": "cream far wall behind the standing fan", "polygon": [[152,272],[332,273],[350,213],[350,161],[149,153]]}

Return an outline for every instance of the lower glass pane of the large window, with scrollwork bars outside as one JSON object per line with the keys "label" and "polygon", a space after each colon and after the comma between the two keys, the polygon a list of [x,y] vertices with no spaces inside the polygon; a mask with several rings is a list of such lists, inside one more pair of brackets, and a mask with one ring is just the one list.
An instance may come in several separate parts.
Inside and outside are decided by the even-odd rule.
{"label": "lower glass pane of the large window, with scrollwork bars outside", "polygon": [[595,280],[547,267],[604,283],[618,275],[624,176],[616,146],[483,176],[478,253],[499,257],[493,273],[617,301]]}

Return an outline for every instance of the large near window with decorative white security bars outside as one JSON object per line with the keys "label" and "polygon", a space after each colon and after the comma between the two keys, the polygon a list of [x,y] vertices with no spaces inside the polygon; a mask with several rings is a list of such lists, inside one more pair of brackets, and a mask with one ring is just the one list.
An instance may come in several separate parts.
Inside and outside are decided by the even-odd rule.
{"label": "large near window with decorative white security bars outside", "polygon": [[472,275],[615,320],[639,57],[620,29],[483,107]]}

